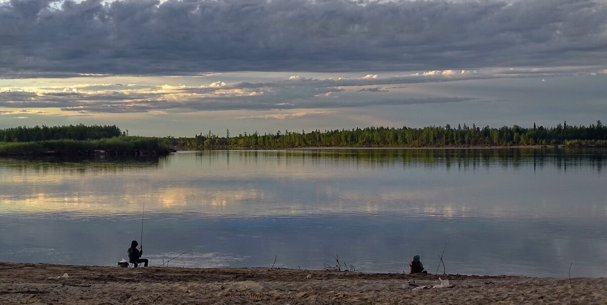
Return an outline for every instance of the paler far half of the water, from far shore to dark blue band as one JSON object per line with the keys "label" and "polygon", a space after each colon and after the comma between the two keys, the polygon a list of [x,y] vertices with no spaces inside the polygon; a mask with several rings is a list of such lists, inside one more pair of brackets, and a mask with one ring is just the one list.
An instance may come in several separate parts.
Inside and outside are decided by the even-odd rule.
{"label": "paler far half of the water, from far shore to dark blue band", "polygon": [[[596,218],[607,214],[604,196],[596,190],[605,182],[595,171],[603,162],[600,156],[537,149],[327,149],[204,151],[135,165],[67,162],[65,168],[61,162],[18,160],[13,166],[0,160],[0,186],[7,190],[0,194],[0,210],[138,213],[145,200],[149,211],[217,216]],[[565,173],[567,160],[575,166]],[[449,171],[461,164],[484,170]],[[98,168],[120,170],[100,173]],[[571,202],[578,202],[573,211]]]}

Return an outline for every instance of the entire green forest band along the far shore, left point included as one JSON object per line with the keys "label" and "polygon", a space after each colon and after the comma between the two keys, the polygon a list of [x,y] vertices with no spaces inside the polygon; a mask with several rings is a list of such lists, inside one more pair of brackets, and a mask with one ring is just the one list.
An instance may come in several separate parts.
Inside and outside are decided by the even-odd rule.
{"label": "entire green forest band along the far shore, left point included", "polygon": [[134,137],[115,125],[19,126],[0,129],[0,154],[168,154],[172,147],[186,148],[294,148],[294,147],[467,147],[467,146],[607,146],[607,127],[601,121],[589,126],[567,123],[544,128],[518,125],[483,128],[466,124],[424,128],[367,127],[311,132],[219,137],[209,131],[194,137]]}

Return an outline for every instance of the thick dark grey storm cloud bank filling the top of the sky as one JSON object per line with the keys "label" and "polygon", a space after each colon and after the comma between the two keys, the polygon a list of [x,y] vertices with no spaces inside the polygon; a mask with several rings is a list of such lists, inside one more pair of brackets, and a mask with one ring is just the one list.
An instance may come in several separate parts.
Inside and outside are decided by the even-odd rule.
{"label": "thick dark grey storm cloud bank filling the top of the sky", "polygon": [[591,0],[12,0],[0,77],[599,66]]}

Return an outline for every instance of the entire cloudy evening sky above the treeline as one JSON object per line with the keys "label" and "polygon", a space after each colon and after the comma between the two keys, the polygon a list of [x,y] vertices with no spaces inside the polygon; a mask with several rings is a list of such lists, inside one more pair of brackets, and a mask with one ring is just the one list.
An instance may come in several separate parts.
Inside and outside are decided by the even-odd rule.
{"label": "entire cloudy evening sky above the treeline", "polygon": [[607,119],[606,0],[0,0],[0,128]]}

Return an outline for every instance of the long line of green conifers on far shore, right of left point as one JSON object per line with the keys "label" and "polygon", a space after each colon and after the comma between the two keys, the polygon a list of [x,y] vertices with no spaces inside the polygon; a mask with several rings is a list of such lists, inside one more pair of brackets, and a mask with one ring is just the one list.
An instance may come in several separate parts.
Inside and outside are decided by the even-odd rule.
{"label": "long line of green conifers on far shore, right of left point", "polygon": [[518,125],[501,128],[483,128],[476,125],[453,127],[428,126],[424,128],[368,127],[306,133],[277,131],[276,134],[239,134],[234,137],[219,137],[212,134],[195,135],[172,139],[175,146],[186,147],[248,147],[284,148],[305,146],[336,147],[437,147],[437,146],[607,146],[607,128],[597,121],[590,126],[558,124],[544,128],[524,128]]}

